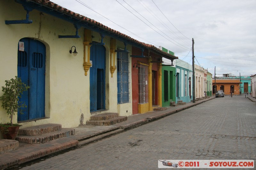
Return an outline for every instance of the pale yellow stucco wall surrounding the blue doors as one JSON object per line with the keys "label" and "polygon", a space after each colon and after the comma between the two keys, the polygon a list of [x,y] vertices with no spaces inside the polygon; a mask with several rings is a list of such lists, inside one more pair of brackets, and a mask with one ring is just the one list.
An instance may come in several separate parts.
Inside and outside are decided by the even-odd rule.
{"label": "pale yellow stucco wall surrounding the blue doors", "polygon": [[[15,11],[15,12],[14,12]],[[33,38],[46,46],[45,75],[45,119],[21,123],[23,127],[60,123],[63,128],[77,127],[80,116],[84,115],[84,123],[89,120],[90,113],[90,70],[85,76],[84,63],[84,28],[78,30],[81,38],[58,38],[58,35],[75,35],[76,29],[72,23],[54,18],[45,13],[33,10],[29,12],[32,24],[4,24],[4,20],[25,19],[26,11],[22,5],[14,1],[0,1],[0,86],[4,80],[17,75],[17,47],[21,38]],[[92,41],[101,41],[99,33],[92,32]],[[106,48],[106,110],[103,112],[118,112],[120,115],[132,115],[132,103],[117,105],[117,71],[113,77],[110,73],[110,37],[104,38]],[[76,46],[78,54],[69,53]],[[116,47],[124,48],[123,42],[117,41]],[[127,46],[129,51],[131,46]],[[116,58],[115,58],[116,62]],[[131,66],[130,66],[131,68]],[[131,77],[130,77],[131,79]],[[130,92],[132,90],[130,89]],[[2,91],[0,95],[2,95]],[[131,96],[132,99],[132,96]],[[129,110],[130,109],[130,110]],[[126,110],[128,110],[126,112]],[[9,122],[5,110],[0,107],[0,123]],[[13,118],[17,122],[17,115]]]}

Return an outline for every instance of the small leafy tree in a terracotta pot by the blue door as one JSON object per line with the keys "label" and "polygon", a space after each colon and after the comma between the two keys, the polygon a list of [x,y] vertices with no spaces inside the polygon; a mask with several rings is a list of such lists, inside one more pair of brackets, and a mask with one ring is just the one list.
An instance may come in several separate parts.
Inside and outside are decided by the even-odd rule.
{"label": "small leafy tree in a terracotta pot by the blue door", "polygon": [[[27,107],[25,102],[20,101],[20,98],[22,93],[27,91],[28,88],[29,86],[22,83],[21,78],[17,76],[11,80],[5,80],[5,87],[2,86],[4,94],[0,97],[0,101],[2,101],[2,107],[6,110],[7,115],[10,115],[11,119],[10,123],[0,124],[4,138],[14,140],[18,134],[21,125],[17,123],[13,124],[12,118],[18,111],[22,114],[22,107]],[[14,135],[12,135],[12,133],[14,133]]]}

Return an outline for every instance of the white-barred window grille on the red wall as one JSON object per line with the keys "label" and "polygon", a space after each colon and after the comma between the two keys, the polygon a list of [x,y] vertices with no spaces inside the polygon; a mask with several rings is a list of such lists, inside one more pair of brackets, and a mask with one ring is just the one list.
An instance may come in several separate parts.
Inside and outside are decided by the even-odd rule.
{"label": "white-barred window grille on the red wall", "polygon": [[148,103],[148,65],[139,65],[139,104]]}

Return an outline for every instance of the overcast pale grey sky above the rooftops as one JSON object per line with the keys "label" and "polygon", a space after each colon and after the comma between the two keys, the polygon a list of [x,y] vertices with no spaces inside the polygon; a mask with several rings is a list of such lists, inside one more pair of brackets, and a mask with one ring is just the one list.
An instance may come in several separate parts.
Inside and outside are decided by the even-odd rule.
{"label": "overcast pale grey sky above the rooftops", "polygon": [[[256,0],[52,0],[214,76],[256,74]],[[122,6],[123,5],[123,6]],[[104,16],[104,17],[103,17]],[[165,62],[168,62],[164,60]]]}

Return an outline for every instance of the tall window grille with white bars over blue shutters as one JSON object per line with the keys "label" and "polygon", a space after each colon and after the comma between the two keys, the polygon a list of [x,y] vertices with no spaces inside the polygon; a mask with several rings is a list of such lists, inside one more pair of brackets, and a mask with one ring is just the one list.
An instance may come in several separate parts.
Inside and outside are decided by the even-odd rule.
{"label": "tall window grille with white bars over blue shutters", "polygon": [[129,52],[117,52],[117,104],[130,103]]}

